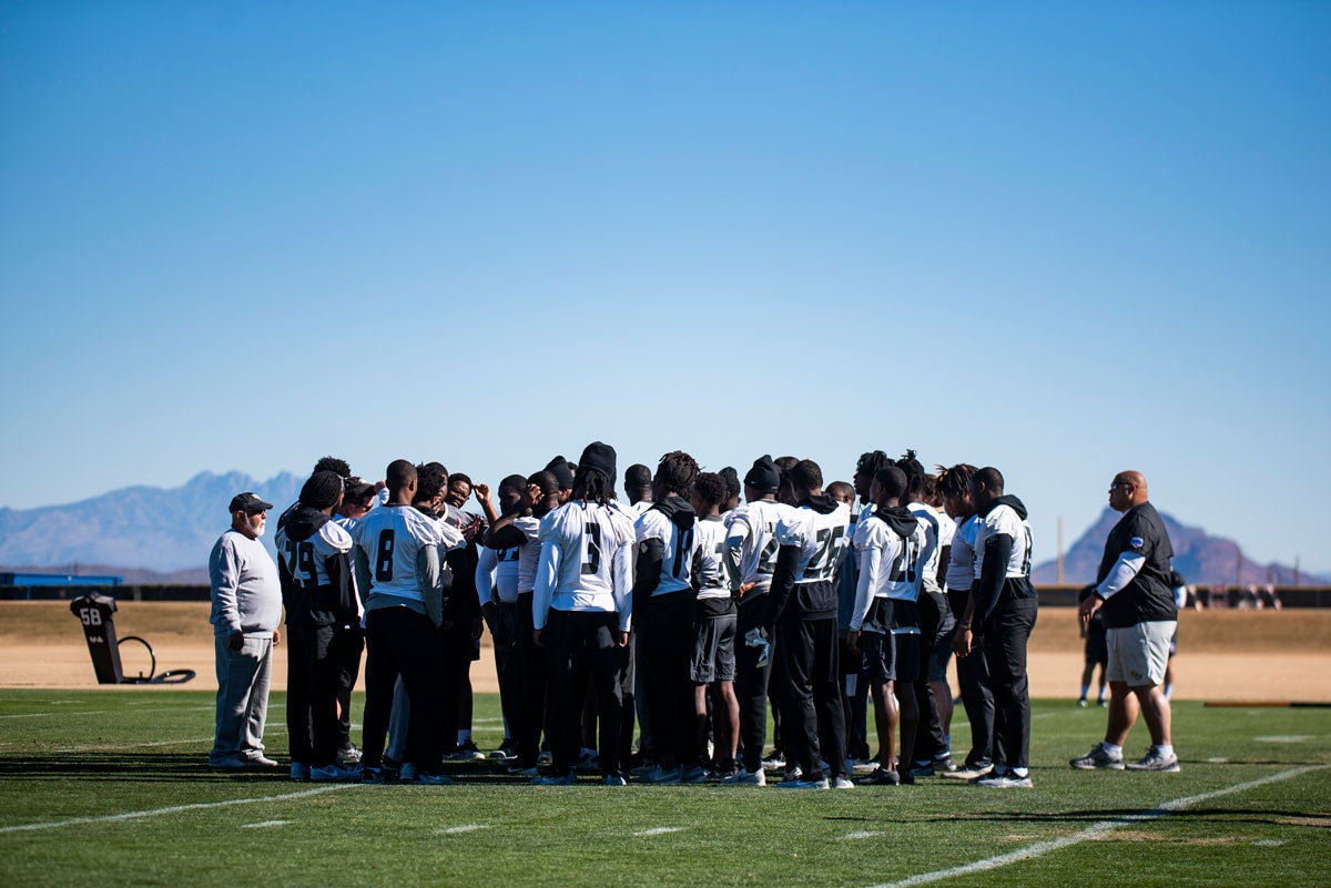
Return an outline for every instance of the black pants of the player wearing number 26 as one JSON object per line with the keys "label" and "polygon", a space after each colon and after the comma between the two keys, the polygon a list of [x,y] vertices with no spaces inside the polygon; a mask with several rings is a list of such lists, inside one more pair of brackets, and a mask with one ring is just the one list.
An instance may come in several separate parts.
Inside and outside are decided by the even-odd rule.
{"label": "black pants of the player wearing number 26", "polygon": [[776,626],[785,667],[785,743],[803,771],[817,780],[827,759],[832,776],[845,775],[845,714],[837,663],[836,617],[801,619],[787,613]]}

